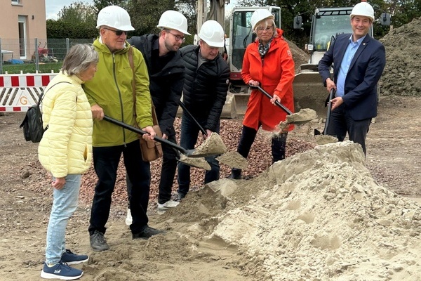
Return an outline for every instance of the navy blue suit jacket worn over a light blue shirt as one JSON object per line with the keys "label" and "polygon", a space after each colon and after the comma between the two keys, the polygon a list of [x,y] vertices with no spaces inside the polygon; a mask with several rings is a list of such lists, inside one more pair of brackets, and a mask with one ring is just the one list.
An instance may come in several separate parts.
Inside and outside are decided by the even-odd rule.
{"label": "navy blue suit jacket worn over a light blue shirt", "polygon": [[[349,44],[351,34],[340,34],[319,62],[319,73],[326,85],[333,64],[333,81],[336,84],[339,68]],[[377,116],[377,83],[386,65],[385,46],[368,34],[356,51],[345,79],[343,101],[354,120]]]}

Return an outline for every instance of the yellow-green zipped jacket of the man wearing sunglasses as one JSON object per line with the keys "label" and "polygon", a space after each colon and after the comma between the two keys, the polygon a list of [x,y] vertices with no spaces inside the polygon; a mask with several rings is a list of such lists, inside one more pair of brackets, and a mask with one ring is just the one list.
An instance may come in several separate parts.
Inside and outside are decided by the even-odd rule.
{"label": "yellow-green zipped jacket of the man wearing sunglasses", "polygon": [[[93,42],[98,51],[100,61],[97,72],[91,81],[83,84],[89,103],[99,105],[104,114],[126,124],[140,128],[152,126],[151,95],[149,92],[149,76],[142,53],[133,48],[136,88],[136,119],[133,115],[133,72],[128,61],[130,44],[126,48],[111,53],[107,45],[100,39]],[[123,129],[105,120],[93,122],[93,146],[115,146],[131,143],[138,139],[137,133]]]}

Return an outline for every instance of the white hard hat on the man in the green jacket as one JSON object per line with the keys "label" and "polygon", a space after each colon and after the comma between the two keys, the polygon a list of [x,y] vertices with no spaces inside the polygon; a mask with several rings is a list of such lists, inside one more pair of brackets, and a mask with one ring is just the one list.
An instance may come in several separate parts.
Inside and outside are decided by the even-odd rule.
{"label": "white hard hat on the man in the green jacket", "polygon": [[135,30],[131,25],[130,15],[119,6],[107,6],[98,13],[97,28],[101,25],[114,27],[117,30],[130,31]]}

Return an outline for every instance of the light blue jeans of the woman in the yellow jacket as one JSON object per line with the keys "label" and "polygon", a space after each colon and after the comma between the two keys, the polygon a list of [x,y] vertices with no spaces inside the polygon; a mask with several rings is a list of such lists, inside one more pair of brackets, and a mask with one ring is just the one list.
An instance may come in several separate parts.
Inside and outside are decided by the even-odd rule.
{"label": "light blue jeans of the woman in the yellow jacket", "polygon": [[65,186],[53,188],[53,207],[47,228],[46,263],[58,263],[65,252],[67,221],[77,209],[81,175],[67,175]]}

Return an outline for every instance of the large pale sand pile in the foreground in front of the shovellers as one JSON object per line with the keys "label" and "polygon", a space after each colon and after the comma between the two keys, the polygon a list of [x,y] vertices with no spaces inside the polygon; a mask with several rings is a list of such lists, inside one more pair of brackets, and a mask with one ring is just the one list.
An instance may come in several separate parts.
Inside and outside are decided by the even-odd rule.
{"label": "large pale sand pile in the foreground in front of the shovellers", "polygon": [[[258,178],[190,192],[183,233],[237,247],[256,280],[421,280],[421,208],[382,188],[352,142],[319,145]],[[196,221],[196,222],[194,222]]]}

